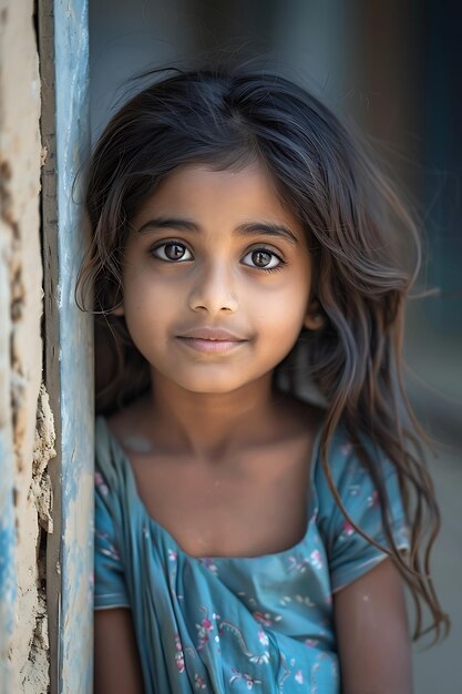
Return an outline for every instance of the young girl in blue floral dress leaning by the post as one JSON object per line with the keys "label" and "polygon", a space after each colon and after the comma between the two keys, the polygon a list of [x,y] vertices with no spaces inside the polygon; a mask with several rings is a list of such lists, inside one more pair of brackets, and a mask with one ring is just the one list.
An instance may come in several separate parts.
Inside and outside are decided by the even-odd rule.
{"label": "young girl in blue floral dress leaning by the post", "polygon": [[86,201],[96,693],[409,694],[403,582],[415,636],[446,618],[390,185],[286,79],[191,71],[112,119]]}

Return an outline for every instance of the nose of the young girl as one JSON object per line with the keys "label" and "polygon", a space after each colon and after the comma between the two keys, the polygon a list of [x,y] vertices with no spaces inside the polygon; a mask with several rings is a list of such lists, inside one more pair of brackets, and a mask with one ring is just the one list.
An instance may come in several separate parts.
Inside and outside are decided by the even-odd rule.
{"label": "nose of the young girl", "polygon": [[189,307],[209,315],[235,313],[238,307],[233,269],[224,262],[204,263],[189,294]]}

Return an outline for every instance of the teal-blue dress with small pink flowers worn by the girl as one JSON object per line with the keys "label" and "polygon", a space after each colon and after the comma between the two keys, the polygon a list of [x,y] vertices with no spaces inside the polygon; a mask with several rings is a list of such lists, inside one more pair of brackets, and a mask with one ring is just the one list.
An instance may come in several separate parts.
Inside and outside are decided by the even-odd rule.
{"label": "teal-blue dress with small pink flowers worn by the girl", "polygon": [[[300,542],[254,558],[193,558],[144,508],[122,447],[96,421],[95,610],[132,610],[145,694],[338,694],[332,593],[386,554],[346,521],[315,441]],[[341,427],[329,466],[343,504],[384,544],[377,492]],[[382,460],[396,540],[408,548],[392,466]]]}

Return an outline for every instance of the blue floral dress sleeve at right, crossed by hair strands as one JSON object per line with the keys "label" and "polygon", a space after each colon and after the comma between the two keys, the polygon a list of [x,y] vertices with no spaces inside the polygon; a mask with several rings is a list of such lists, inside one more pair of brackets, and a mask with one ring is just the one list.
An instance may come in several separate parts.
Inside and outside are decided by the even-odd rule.
{"label": "blue floral dress sleeve at right, crossed by hair strands", "polygon": [[[329,461],[340,499],[355,523],[376,542],[388,547],[377,488],[353,447],[343,440]],[[409,549],[409,533],[401,492],[392,463],[381,457],[384,487],[389,503],[389,520],[397,547]],[[370,571],[388,554],[371,544],[355,530],[336,503],[327,481],[324,483],[322,525],[329,557],[331,590],[337,591]],[[326,499],[327,498],[327,499]]]}

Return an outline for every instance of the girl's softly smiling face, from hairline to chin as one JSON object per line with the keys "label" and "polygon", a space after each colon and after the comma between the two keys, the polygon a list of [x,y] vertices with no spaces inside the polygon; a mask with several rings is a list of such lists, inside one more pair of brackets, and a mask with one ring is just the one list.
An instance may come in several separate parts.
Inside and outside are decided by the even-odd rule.
{"label": "girl's softly smiling face, from hairline to chin", "polygon": [[132,228],[115,313],[154,380],[230,392],[270,375],[304,323],[316,327],[304,229],[263,166],[184,166]]}

